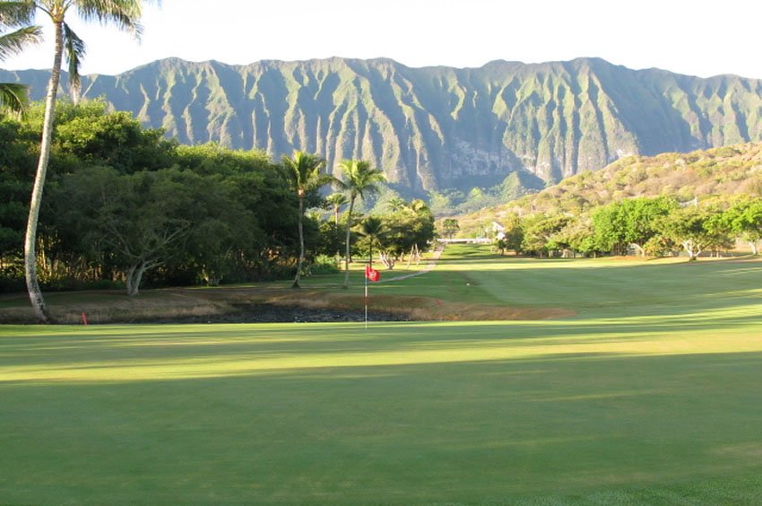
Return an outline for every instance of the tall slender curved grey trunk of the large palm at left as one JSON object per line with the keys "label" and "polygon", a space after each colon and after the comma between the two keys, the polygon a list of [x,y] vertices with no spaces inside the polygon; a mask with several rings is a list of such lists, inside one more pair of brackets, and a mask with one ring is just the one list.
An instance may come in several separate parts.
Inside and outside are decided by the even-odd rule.
{"label": "tall slender curved grey trunk of the large palm at left", "polygon": [[56,54],[53,58],[53,68],[50,71],[48,82],[48,95],[45,98],[45,119],[42,124],[42,141],[39,145],[39,163],[34,177],[34,188],[31,191],[29,205],[29,221],[24,236],[24,274],[27,282],[27,290],[32,309],[42,323],[50,323],[50,312],[42,298],[37,279],[37,224],[39,222],[39,207],[42,203],[42,190],[45,187],[45,176],[48,172],[48,160],[50,159],[50,144],[53,139],[53,117],[56,112],[56,93],[58,82],[61,78],[61,58],[64,54],[64,30],[63,23],[56,22]]}

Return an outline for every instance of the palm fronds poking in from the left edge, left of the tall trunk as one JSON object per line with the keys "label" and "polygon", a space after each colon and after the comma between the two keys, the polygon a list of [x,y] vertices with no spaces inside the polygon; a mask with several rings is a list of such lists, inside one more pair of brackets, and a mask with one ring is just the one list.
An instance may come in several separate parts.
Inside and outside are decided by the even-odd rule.
{"label": "palm fronds poking in from the left edge, left of the tall trunk", "polygon": [[[34,6],[26,2],[0,2],[0,28],[17,30],[0,35],[0,61],[16,55],[28,44],[39,42],[42,30],[32,25]],[[29,87],[19,83],[0,83],[0,107],[21,114],[28,100]]]}

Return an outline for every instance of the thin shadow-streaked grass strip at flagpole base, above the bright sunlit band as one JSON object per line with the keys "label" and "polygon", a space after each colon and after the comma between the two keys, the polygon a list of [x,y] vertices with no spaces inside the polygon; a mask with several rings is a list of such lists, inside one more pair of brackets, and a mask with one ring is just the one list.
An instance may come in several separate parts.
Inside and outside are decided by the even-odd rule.
{"label": "thin shadow-streaked grass strip at flagpole base, above the bright sunlit band", "polygon": [[[110,359],[154,357],[192,359],[215,356],[254,356],[299,353],[377,353],[396,349],[443,347],[506,347],[537,345],[602,345],[650,341],[654,336],[695,332],[762,334],[762,324],[748,304],[740,314],[715,310],[703,315],[566,320],[543,322],[373,322],[345,324],[229,324],[138,325],[65,327],[62,336],[50,336],[56,327],[3,328],[0,366],[44,357],[46,363],[72,358],[89,360],[108,352]],[[13,330],[18,329],[18,336]],[[50,353],[55,352],[55,353]]]}

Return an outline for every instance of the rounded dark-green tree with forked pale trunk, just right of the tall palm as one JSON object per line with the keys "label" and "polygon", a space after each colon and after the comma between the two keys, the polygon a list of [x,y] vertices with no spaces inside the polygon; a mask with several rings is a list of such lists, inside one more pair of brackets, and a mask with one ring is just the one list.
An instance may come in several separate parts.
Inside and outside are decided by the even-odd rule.
{"label": "rounded dark-green tree with forked pale trunk, just right of the tall palm", "polygon": [[[203,202],[210,186],[188,170],[123,175],[110,167],[89,167],[62,178],[51,188],[50,200],[58,203],[58,230],[79,243],[70,246],[123,272],[127,294],[134,296],[145,273],[187,251],[196,229],[219,231],[213,226],[219,220],[208,212],[215,203]],[[229,207],[224,201],[216,204]],[[205,239],[211,249],[211,238]]]}

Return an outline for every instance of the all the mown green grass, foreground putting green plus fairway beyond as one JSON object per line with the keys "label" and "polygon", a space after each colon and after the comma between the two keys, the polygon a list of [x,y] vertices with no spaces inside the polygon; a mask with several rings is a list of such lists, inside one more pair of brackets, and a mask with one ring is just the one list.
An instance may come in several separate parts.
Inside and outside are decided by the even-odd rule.
{"label": "all the mown green grass, foreground putting green plus fairway beyond", "polygon": [[762,496],[762,262],[449,251],[373,290],[576,317],[0,327],[0,503]]}

